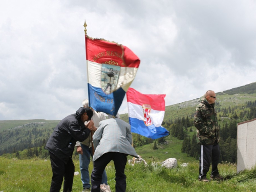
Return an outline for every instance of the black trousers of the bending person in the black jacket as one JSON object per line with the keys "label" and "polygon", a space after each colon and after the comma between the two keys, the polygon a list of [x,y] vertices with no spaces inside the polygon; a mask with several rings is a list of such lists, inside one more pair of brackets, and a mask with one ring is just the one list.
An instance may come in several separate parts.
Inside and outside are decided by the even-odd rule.
{"label": "black trousers of the bending person in the black jacket", "polygon": [[72,191],[75,165],[72,158],[65,164],[57,156],[50,152],[52,165],[52,183],[50,192],[59,192],[64,177],[63,192]]}

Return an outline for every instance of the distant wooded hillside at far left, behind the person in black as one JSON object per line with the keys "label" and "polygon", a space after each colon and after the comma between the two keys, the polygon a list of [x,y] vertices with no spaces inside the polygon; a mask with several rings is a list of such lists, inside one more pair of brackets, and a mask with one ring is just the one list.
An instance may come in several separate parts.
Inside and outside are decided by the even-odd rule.
{"label": "distant wooded hillside at far left, behind the person in black", "polygon": [[0,121],[0,155],[42,145],[58,122],[44,119]]}

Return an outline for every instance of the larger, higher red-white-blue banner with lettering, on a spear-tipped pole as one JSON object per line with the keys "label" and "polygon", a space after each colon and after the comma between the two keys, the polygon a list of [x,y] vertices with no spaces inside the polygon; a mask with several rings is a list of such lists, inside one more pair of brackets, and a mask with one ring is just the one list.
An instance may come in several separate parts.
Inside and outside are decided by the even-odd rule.
{"label": "larger, higher red-white-blue banner with lettering, on a spear-tipped pole", "polygon": [[140,65],[127,47],[86,35],[89,105],[116,115]]}

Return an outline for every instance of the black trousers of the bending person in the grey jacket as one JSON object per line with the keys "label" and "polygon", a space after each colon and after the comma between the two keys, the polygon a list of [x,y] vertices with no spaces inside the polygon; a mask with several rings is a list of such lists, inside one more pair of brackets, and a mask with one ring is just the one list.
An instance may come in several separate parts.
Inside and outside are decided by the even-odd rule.
{"label": "black trousers of the bending person in the grey jacket", "polygon": [[102,180],[102,173],[106,165],[113,160],[116,169],[116,192],[125,192],[126,190],[126,176],[124,168],[127,162],[127,155],[117,152],[109,152],[103,154],[96,161],[91,174],[91,192],[100,192],[100,184]]}

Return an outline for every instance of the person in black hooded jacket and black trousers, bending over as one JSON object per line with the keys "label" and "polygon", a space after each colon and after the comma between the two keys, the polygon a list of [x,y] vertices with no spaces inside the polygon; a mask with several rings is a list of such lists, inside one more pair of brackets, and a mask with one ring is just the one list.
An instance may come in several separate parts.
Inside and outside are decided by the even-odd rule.
{"label": "person in black hooded jacket and black trousers, bending over", "polygon": [[62,119],[55,127],[52,135],[46,143],[46,149],[50,153],[52,166],[52,182],[50,192],[59,192],[64,177],[63,192],[72,191],[75,166],[72,154],[76,141],[84,141],[91,130],[95,131],[91,120],[93,111],[90,108],[79,108],[75,114]]}

